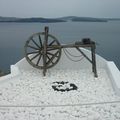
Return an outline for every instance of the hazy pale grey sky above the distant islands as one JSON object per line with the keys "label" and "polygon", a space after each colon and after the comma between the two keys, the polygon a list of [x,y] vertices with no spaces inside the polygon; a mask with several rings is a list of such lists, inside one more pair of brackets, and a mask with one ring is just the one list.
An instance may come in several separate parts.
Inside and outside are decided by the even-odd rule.
{"label": "hazy pale grey sky above the distant islands", "polygon": [[120,18],[120,0],[0,0],[0,16]]}

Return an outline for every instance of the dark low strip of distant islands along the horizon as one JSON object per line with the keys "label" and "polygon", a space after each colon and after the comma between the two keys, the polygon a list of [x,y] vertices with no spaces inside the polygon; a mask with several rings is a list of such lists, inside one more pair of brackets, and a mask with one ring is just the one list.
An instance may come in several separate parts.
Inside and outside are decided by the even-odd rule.
{"label": "dark low strip of distant islands along the horizon", "polygon": [[0,22],[40,22],[40,23],[58,23],[58,22],[108,22],[112,20],[120,20],[119,18],[92,18],[92,17],[77,17],[66,16],[60,18],[16,18],[16,17],[2,17],[0,16]]}

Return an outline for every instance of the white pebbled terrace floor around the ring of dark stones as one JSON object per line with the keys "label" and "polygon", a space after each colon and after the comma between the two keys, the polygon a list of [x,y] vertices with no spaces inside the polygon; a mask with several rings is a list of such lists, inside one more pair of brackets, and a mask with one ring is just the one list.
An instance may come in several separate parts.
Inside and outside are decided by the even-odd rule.
{"label": "white pebbled terrace floor around the ring of dark stones", "polygon": [[[0,120],[120,120],[116,96],[104,69],[94,78],[89,70],[22,71],[0,84]],[[55,81],[74,83],[78,90],[57,92]]]}

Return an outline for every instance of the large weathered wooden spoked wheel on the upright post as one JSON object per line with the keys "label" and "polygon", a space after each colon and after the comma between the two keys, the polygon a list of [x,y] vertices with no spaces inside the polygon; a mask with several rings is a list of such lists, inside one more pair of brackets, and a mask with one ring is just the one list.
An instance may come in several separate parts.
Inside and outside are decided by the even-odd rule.
{"label": "large weathered wooden spoked wheel on the upright post", "polygon": [[[45,43],[45,32],[33,34],[26,41],[25,57],[35,68],[51,68],[57,64],[61,57],[61,48],[52,46],[60,46],[54,36],[47,34],[47,42]],[[45,61],[44,57],[46,57]]]}

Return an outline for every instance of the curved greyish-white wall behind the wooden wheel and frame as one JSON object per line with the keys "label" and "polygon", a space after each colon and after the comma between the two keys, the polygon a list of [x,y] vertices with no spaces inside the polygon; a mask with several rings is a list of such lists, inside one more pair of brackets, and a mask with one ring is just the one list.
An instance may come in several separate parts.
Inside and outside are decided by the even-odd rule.
{"label": "curved greyish-white wall behind the wooden wheel and frame", "polygon": [[[80,53],[75,49],[75,48],[69,48],[67,49],[71,54],[73,55],[80,55]],[[89,57],[91,58],[91,52],[89,50],[83,49],[81,48],[81,50]],[[72,59],[76,60],[76,59],[80,59],[80,58],[74,58],[72,57]],[[106,65],[106,60],[103,59],[102,57],[100,57],[99,55],[96,55],[96,63],[97,63],[97,68],[104,68]],[[21,69],[33,69],[33,67],[26,61],[25,58],[23,58],[22,60],[20,60],[18,63],[15,64],[16,66],[18,66],[18,68]],[[63,50],[62,50],[62,55],[60,58],[60,61],[53,66],[52,69],[83,69],[83,68],[90,68],[91,69],[91,63],[86,59],[83,58],[81,61],[79,62],[73,62],[70,61],[66,55],[64,54]]]}

